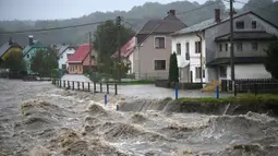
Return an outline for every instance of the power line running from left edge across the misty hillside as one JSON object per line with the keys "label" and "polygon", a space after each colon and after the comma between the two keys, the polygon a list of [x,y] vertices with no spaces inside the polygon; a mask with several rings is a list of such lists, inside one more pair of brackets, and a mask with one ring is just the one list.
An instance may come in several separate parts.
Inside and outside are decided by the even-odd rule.
{"label": "power line running from left edge across the misty hillside", "polygon": [[96,25],[96,24],[100,24],[100,23],[104,23],[104,22],[105,21],[93,22],[93,23],[85,23],[85,24],[78,24],[78,25],[61,26],[61,27],[41,28],[41,29],[27,29],[27,31],[16,31],[16,32],[0,32],[0,35],[12,35],[12,34],[25,34],[25,33],[36,33],[36,32],[65,29],[65,28]]}

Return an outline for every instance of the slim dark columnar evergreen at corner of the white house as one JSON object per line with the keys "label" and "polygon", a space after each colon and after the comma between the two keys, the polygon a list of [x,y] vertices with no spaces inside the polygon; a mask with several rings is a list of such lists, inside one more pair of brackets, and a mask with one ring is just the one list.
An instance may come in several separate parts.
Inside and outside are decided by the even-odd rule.
{"label": "slim dark columnar evergreen at corner of the white house", "polygon": [[176,52],[170,56],[169,82],[179,82],[179,68]]}

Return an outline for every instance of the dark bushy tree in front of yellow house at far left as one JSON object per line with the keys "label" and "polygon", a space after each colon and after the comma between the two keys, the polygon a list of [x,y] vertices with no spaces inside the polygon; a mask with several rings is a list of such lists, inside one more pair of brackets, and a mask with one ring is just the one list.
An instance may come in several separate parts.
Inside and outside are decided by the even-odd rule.
{"label": "dark bushy tree in front of yellow house at far left", "polygon": [[9,51],[2,60],[2,67],[11,71],[24,71],[25,62],[23,60],[22,51]]}

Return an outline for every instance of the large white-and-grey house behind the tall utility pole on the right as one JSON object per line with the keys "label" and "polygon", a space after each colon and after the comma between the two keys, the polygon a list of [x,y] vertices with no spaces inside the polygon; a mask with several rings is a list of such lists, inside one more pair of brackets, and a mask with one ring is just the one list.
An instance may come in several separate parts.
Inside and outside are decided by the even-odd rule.
{"label": "large white-and-grey house behind the tall utility pole on the right", "polygon": [[[235,79],[270,77],[264,68],[263,56],[264,49],[278,35],[277,26],[253,12],[235,14],[233,21]],[[215,10],[214,19],[172,36],[172,52],[178,53],[181,82],[201,82],[201,75],[203,82],[231,79],[230,19],[221,19],[220,10]]]}

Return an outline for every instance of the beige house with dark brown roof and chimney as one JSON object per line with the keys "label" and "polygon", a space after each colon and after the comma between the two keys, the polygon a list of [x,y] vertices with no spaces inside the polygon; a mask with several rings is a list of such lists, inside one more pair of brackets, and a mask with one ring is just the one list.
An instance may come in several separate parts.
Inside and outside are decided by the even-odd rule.
{"label": "beige house with dark brown roof and chimney", "polygon": [[136,48],[130,59],[136,79],[168,79],[171,34],[186,27],[170,10],[162,20],[148,21],[135,35]]}

